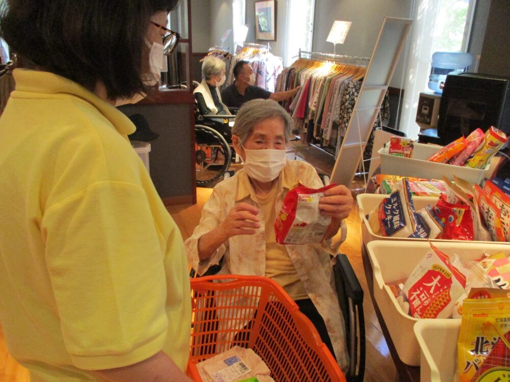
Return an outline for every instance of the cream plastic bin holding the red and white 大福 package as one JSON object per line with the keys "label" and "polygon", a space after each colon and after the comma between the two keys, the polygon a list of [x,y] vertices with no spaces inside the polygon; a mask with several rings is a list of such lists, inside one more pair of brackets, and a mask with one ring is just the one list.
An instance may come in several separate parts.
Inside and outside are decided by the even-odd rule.
{"label": "cream plastic bin holding the red and white \u5927\u798f package", "polygon": [[[482,257],[483,252],[489,254],[498,251],[510,254],[510,247],[506,243],[475,243],[449,241],[434,242],[434,245],[447,255],[453,251],[461,251],[469,260]],[[413,331],[417,321],[431,319],[416,319],[404,313],[393,296],[393,292],[386,285],[387,282],[406,280],[416,265],[425,257],[430,245],[426,241],[371,241],[367,245],[368,255],[373,267],[374,298],[388,332],[393,340],[398,357],[403,363],[411,366],[420,365],[420,347]],[[445,324],[453,319],[433,319],[438,324]],[[456,321],[460,322],[460,319]]]}

